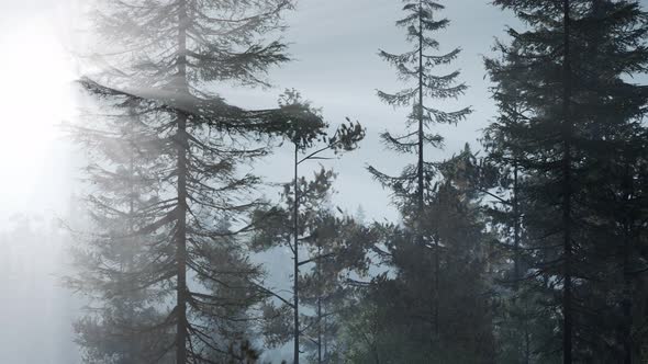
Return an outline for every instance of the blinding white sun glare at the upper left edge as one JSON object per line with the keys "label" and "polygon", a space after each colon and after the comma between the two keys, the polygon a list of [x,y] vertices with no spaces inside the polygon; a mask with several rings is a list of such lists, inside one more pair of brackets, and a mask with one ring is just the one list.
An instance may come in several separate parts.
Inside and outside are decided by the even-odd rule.
{"label": "blinding white sun glare at the upper left edge", "polygon": [[53,22],[0,27],[0,203],[20,206],[52,171],[58,125],[72,114],[71,67]]}

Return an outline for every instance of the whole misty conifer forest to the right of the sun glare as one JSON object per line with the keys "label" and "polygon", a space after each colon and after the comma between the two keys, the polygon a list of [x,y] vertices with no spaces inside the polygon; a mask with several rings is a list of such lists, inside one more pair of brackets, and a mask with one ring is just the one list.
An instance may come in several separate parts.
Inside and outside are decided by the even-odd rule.
{"label": "whole misty conifer forest to the right of the sun glare", "polygon": [[[71,128],[89,161],[68,278],[91,298],[85,362],[256,363],[288,344],[293,363],[648,361],[648,13],[495,0],[523,24],[483,59],[499,113],[480,146],[435,160],[437,126],[472,112],[446,107],[467,90],[446,71],[460,44],[439,50],[443,4],[403,3],[409,50],[379,56],[405,88],[378,98],[411,110],[381,135],[411,163],[367,171],[393,223],[343,213],[335,172],[300,169],[357,149],[359,123],[331,127],[294,90],[270,110],[210,91],[268,84],[292,0],[93,4],[101,71],[79,81],[93,104]],[[273,202],[243,167],[281,145],[294,175]],[[291,261],[253,259],[277,249]]]}

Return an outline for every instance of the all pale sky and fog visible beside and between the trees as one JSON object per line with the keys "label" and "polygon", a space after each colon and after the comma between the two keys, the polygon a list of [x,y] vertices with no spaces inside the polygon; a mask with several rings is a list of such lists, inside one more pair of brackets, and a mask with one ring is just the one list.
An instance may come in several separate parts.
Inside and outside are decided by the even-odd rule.
{"label": "all pale sky and fog visible beside and between the trees", "polygon": [[[445,1],[444,15],[451,24],[435,37],[442,50],[459,46],[461,53],[450,68],[461,70],[469,89],[458,100],[444,101],[445,109],[471,105],[474,110],[458,125],[444,125],[443,149],[429,148],[427,158],[443,160],[459,153],[468,143],[480,151],[478,140],[498,110],[490,98],[483,57],[492,56],[495,38],[505,37],[509,25],[519,22],[511,12],[488,1]],[[641,4],[648,7],[648,0]],[[80,77],[79,56],[87,19],[75,0],[3,1],[0,3],[0,361],[25,364],[80,363],[72,322],[88,302],[64,287],[71,274],[70,248],[75,243],[67,227],[86,213],[78,198],[86,191],[82,167],[87,155],[62,126],[78,117],[79,96],[74,81]],[[366,127],[357,150],[340,158],[309,161],[301,175],[310,177],[321,166],[337,173],[332,206],[347,215],[361,209],[367,221],[395,221],[401,217],[391,204],[390,191],[367,171],[373,166],[400,173],[403,157],[384,150],[379,135],[404,127],[407,107],[381,103],[378,89],[396,91],[402,82],[378,57],[379,49],[404,52],[404,30],[394,27],[402,18],[396,0],[300,0],[287,12],[282,39],[292,61],[272,68],[270,88],[209,86],[227,102],[242,107],[276,107],[287,88],[299,90],[332,125],[346,117]],[[81,48],[81,49],[79,49]],[[638,80],[641,80],[639,78]],[[276,148],[246,168],[266,182],[292,179],[293,150],[289,144]],[[415,162],[414,157],[407,157]],[[277,200],[280,189],[264,187]],[[292,272],[288,249],[278,249],[260,261],[273,287],[290,287]],[[265,350],[264,357],[279,362],[291,357],[292,346]]]}

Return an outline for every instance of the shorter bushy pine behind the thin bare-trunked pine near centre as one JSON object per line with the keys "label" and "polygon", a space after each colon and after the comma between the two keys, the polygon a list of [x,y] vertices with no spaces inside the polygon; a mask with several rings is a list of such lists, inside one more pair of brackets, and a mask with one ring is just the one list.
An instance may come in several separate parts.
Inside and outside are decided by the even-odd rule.
{"label": "shorter bushy pine behind the thin bare-trunked pine near centre", "polygon": [[[288,247],[292,252],[293,266],[298,268],[298,325],[294,325],[294,300],[272,294],[282,306],[269,303],[265,308],[268,321],[265,332],[271,346],[294,341],[295,328],[304,346],[312,353],[313,362],[325,363],[327,351],[334,353],[336,317],[345,297],[343,273],[351,269],[356,260],[364,258],[364,250],[357,241],[367,230],[348,216],[336,216],[333,208],[326,208],[331,198],[335,175],[322,169],[314,178],[300,178],[299,191],[299,249],[300,260],[294,263],[294,190],[286,184],[281,204],[268,211],[258,211],[255,243],[260,250]],[[304,258],[303,255],[306,255]],[[294,287],[293,286],[293,287]],[[291,297],[294,299],[294,294]],[[329,350],[325,346],[329,345]]]}

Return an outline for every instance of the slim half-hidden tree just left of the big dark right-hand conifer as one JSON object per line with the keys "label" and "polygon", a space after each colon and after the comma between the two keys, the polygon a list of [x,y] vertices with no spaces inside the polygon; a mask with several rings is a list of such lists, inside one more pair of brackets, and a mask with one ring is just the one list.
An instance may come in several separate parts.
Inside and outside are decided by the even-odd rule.
{"label": "slim half-hidden tree just left of the big dark right-hand conifer", "polygon": [[523,195],[525,173],[516,162],[521,151],[499,129],[500,125],[516,123],[519,114],[515,100],[500,104],[498,122],[485,129],[481,140],[487,156],[473,181],[487,201],[490,230],[496,238],[490,274],[499,291],[495,334],[498,362],[502,363],[532,363],[535,335],[543,331],[539,317],[534,315],[534,295],[526,289],[524,280],[529,268],[525,253],[529,246],[523,221],[528,208]]}

